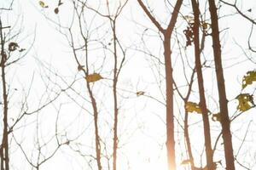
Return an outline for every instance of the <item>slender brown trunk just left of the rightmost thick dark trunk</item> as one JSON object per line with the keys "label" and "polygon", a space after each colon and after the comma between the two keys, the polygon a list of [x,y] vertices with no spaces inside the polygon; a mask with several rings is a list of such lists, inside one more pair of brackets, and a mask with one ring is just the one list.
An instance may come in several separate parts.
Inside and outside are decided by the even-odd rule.
{"label": "slender brown trunk just left of the rightmost thick dark trunk", "polygon": [[204,124],[204,137],[205,137],[205,146],[206,146],[206,156],[207,156],[207,169],[213,170],[215,169],[213,161],[212,161],[212,144],[211,144],[211,131],[208,119],[208,111],[207,111],[207,102],[205,97],[205,89],[204,89],[204,82],[203,82],[203,75],[201,71],[201,59],[200,59],[200,40],[199,40],[199,27],[200,27],[200,20],[199,20],[199,7],[196,0],[192,0],[192,7],[195,17],[194,23],[194,42],[195,42],[195,69],[197,73],[197,80],[198,80],[198,88],[200,94],[200,107],[202,112],[202,119]]}

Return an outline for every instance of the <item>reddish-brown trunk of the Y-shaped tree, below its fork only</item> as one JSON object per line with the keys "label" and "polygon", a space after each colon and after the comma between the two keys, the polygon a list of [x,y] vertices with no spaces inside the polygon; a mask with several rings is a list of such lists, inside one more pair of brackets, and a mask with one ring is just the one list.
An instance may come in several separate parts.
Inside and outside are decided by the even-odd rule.
{"label": "reddish-brown trunk of the Y-shaped tree, below its fork only", "polygon": [[172,60],[171,60],[171,36],[165,35],[164,55],[166,65],[166,147],[168,169],[175,170],[175,140],[174,140],[174,122],[173,122],[173,77],[172,77]]}

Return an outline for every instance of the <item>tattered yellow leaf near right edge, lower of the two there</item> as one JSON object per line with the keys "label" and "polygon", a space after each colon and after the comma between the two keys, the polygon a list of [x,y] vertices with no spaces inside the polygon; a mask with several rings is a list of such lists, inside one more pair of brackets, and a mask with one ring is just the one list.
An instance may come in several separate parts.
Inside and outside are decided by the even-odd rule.
{"label": "tattered yellow leaf near right edge, lower of the two there", "polygon": [[247,111],[254,106],[253,96],[250,94],[239,94],[236,96],[236,99],[239,102],[236,109],[239,111]]}

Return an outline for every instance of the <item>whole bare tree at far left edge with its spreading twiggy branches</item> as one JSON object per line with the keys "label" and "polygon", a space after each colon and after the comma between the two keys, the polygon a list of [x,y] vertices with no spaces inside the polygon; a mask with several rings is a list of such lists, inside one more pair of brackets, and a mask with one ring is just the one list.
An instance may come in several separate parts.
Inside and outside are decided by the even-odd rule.
{"label": "whole bare tree at far left edge with its spreading twiggy branches", "polygon": [[[1,170],[9,170],[14,168],[14,162],[15,157],[20,156],[19,154],[23,154],[25,156],[25,159],[27,163],[29,163],[32,168],[39,169],[39,167],[45,162],[48,161],[51,157],[55,155],[55,152],[60,148],[62,145],[61,142],[58,141],[57,147],[53,154],[51,154],[48,157],[44,157],[42,148],[47,147],[47,145],[50,143],[50,141],[45,144],[41,139],[38,137],[38,115],[40,115],[41,111],[44,110],[47,106],[54,103],[56,99],[60,97],[60,95],[65,91],[63,89],[60,89],[59,92],[57,92],[54,95],[52,99],[43,99],[44,95],[48,95],[48,97],[51,95],[48,92],[49,84],[47,84],[46,91],[44,94],[42,94],[41,99],[38,101],[38,108],[31,109],[32,105],[37,105],[37,102],[34,101],[33,104],[31,104],[28,100],[32,97],[30,95],[33,83],[35,83],[35,80],[38,80],[35,78],[37,74],[33,73],[32,77],[29,77],[26,82],[28,82],[28,87],[23,87],[23,84],[17,83],[17,79],[20,78],[20,74],[16,73],[15,70],[18,70],[17,65],[20,65],[20,63],[25,60],[25,57],[28,55],[28,53],[31,51],[33,43],[34,43],[34,37],[32,37],[31,42],[23,43],[21,40],[23,38],[21,32],[22,27],[18,27],[17,25],[22,26],[22,20],[20,20],[19,17],[15,18],[15,14],[13,11],[13,5],[14,1],[11,1],[9,4],[9,8],[1,8],[0,10],[3,10],[3,18],[0,19],[0,42],[1,42],[1,81],[2,81],[2,98],[1,105],[3,106],[2,110],[3,114],[1,114],[1,118],[3,118],[3,124],[1,124],[1,127],[3,127],[3,131],[1,134],[1,143],[0,143],[0,160],[1,160]],[[9,21],[9,18],[15,19],[15,24],[11,21]],[[6,17],[6,18],[5,18]],[[5,26],[3,23],[9,23],[8,26]],[[26,37],[28,37],[26,35]],[[31,45],[27,45],[31,43]],[[26,46],[26,48],[24,48]],[[26,74],[29,75],[29,71],[26,71]],[[35,76],[36,75],[36,76]],[[41,75],[44,77],[44,75]],[[43,78],[42,78],[43,79]],[[31,82],[30,82],[31,81]],[[43,88],[42,88],[43,89]],[[52,89],[51,89],[52,90]],[[51,91],[53,92],[53,91]],[[33,96],[34,97],[34,96]],[[14,106],[15,105],[15,106]],[[17,109],[17,108],[18,109]],[[22,139],[20,139],[20,129],[26,129],[28,126],[27,124],[23,124],[27,120],[30,119],[30,116],[33,117],[37,115],[37,144],[38,144],[38,160],[37,163],[34,163],[29,158],[29,153],[33,152],[33,150],[26,150],[23,148]],[[57,135],[57,133],[56,133]],[[28,139],[33,137],[33,135],[27,136]],[[21,137],[22,138],[22,137]],[[58,138],[56,136],[56,138]],[[57,139],[58,140],[58,139]],[[44,143],[44,144],[42,144]],[[41,145],[42,144],[42,145]],[[66,143],[65,143],[66,144]],[[15,153],[15,148],[19,148],[17,152]],[[41,159],[42,157],[43,160]],[[21,160],[21,157],[20,157]],[[24,162],[23,162],[24,163]]]}

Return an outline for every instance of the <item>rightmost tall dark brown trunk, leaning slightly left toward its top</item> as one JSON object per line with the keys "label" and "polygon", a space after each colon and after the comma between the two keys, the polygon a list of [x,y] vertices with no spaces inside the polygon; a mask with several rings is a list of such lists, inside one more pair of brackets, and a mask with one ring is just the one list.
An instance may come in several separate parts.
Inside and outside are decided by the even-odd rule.
{"label": "rightmost tall dark brown trunk, leaning slightly left toward its top", "polygon": [[215,71],[218,84],[219,110],[221,114],[221,126],[224,139],[224,153],[226,169],[234,170],[234,155],[232,147],[232,137],[230,133],[230,118],[228,111],[228,101],[224,83],[223,67],[221,61],[221,46],[219,41],[218,15],[214,0],[209,0],[209,8],[212,20],[212,48],[214,54]]}

